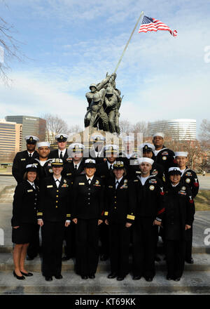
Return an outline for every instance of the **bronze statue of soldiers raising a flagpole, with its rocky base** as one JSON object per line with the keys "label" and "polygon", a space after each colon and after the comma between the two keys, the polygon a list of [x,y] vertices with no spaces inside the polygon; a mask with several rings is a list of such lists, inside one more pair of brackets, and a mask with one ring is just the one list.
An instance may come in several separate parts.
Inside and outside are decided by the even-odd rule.
{"label": "bronze statue of soldiers raising a flagpole, with its rocky base", "polygon": [[85,94],[88,103],[84,117],[85,130],[69,136],[69,142],[82,142],[87,145],[90,143],[92,133],[97,131],[103,136],[106,135],[106,143],[113,143],[114,140],[120,143],[119,110],[123,96],[121,96],[120,90],[116,88],[116,71],[143,15],[144,12],[141,12],[113,74],[107,72],[106,77],[100,83],[90,84],[90,91]]}

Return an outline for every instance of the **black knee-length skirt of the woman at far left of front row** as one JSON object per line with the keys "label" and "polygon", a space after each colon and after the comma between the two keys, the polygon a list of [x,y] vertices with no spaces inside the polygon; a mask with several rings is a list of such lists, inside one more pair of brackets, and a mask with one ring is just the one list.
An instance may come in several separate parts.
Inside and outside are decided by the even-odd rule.
{"label": "black knee-length skirt of the woman at far left of front row", "polygon": [[19,228],[13,228],[13,244],[28,244],[35,233],[36,225],[33,223],[22,223]]}

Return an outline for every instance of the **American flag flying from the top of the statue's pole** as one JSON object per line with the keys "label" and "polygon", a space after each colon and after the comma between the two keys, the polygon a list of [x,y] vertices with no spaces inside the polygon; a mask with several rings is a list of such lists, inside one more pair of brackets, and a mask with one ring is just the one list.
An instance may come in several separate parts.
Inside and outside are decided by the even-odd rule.
{"label": "American flag flying from the top of the statue's pole", "polygon": [[141,27],[139,28],[139,32],[148,32],[148,31],[158,31],[158,30],[167,30],[174,37],[177,35],[177,31],[169,28],[169,26],[165,25],[160,20],[155,20],[155,18],[144,16]]}

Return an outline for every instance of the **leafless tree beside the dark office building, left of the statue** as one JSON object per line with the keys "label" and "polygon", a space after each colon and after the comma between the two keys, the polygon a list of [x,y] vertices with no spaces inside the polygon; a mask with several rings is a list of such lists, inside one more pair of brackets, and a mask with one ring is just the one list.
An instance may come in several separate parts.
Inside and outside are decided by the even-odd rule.
{"label": "leafless tree beside the dark office building, left of the statue", "polygon": [[50,143],[55,142],[55,136],[59,133],[69,133],[68,125],[66,121],[59,116],[52,114],[44,114],[43,119],[46,121],[46,140]]}

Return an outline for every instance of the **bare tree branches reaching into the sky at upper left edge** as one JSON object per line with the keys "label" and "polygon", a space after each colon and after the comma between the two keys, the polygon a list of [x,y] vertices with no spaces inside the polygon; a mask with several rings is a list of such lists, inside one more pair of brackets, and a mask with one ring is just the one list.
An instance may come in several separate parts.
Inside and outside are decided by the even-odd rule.
{"label": "bare tree branches reaching into the sky at upper left edge", "polygon": [[7,73],[10,70],[8,63],[13,58],[20,61],[22,61],[23,58],[20,47],[18,46],[20,42],[14,39],[12,29],[13,26],[8,25],[8,23],[0,17],[0,79],[7,85],[12,81]]}

